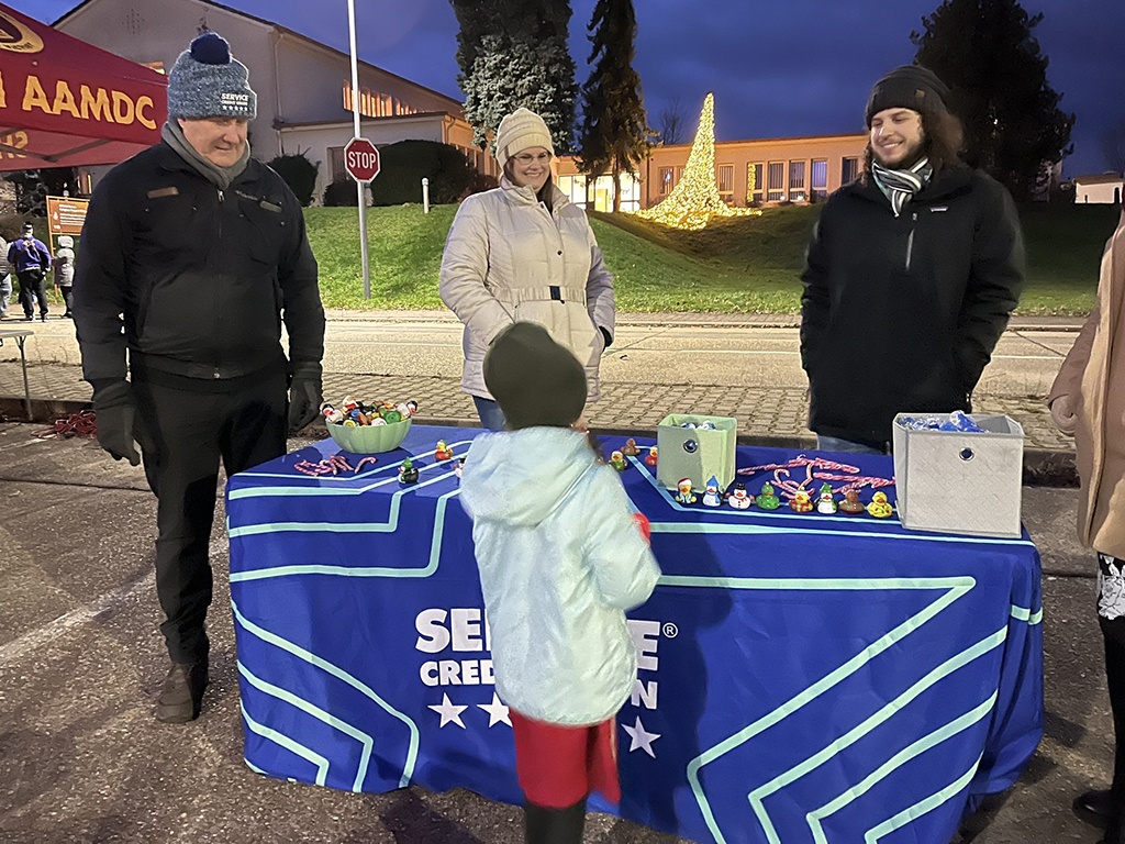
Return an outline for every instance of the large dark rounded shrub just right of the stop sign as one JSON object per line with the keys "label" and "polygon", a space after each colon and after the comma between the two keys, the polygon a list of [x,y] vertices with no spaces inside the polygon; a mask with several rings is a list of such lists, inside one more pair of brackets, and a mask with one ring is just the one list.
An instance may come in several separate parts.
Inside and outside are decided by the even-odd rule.
{"label": "large dark rounded shrub just right of the stop sign", "polygon": [[430,180],[430,203],[456,203],[472,192],[479,173],[460,150],[436,141],[399,141],[379,150],[379,176],[371,183],[375,205],[422,201],[422,179]]}

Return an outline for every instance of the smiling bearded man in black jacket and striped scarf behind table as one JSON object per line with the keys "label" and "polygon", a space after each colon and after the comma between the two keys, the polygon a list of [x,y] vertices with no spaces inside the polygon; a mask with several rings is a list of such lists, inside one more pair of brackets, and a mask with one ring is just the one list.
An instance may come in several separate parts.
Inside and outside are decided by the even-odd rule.
{"label": "smiling bearded man in black jacket and striped scarf behind table", "polygon": [[1019,300],[1015,204],[957,156],[948,97],[918,65],[879,80],[864,172],[828,198],[813,231],[801,365],[822,450],[885,452],[897,413],[970,411]]}

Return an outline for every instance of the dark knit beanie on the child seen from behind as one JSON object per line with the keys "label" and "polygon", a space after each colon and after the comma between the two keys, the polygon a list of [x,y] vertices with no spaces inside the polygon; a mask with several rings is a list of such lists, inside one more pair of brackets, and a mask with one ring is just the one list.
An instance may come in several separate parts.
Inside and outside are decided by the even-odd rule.
{"label": "dark knit beanie on the child seen from behind", "polygon": [[515,322],[485,354],[485,386],[512,431],[534,425],[568,428],[586,406],[586,371],[542,325]]}

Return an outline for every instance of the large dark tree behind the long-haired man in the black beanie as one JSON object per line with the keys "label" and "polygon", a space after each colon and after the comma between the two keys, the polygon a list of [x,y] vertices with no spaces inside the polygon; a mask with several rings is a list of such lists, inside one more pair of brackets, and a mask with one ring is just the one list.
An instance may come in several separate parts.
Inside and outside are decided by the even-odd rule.
{"label": "large dark tree behind the long-haired man in the black beanie", "polygon": [[1050,60],[1033,30],[1043,14],[1017,0],[944,0],[925,30],[912,32],[915,62],[953,91],[952,110],[965,126],[965,160],[1002,181],[1017,199],[1035,188],[1045,162],[1073,151],[1074,115],[1047,82]]}

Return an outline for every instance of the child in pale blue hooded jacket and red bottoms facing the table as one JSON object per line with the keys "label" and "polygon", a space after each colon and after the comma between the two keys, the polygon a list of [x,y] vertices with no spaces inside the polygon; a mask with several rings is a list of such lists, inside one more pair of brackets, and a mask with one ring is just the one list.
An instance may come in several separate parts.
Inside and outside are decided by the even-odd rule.
{"label": "child in pale blue hooded jacket and red bottoms facing the table", "polygon": [[507,431],[479,434],[461,504],[510,707],[528,844],[582,841],[586,797],[621,799],[615,715],[637,680],[626,611],[660,571],[621,478],[572,428],[586,404],[578,359],[541,325],[493,341],[484,381]]}

